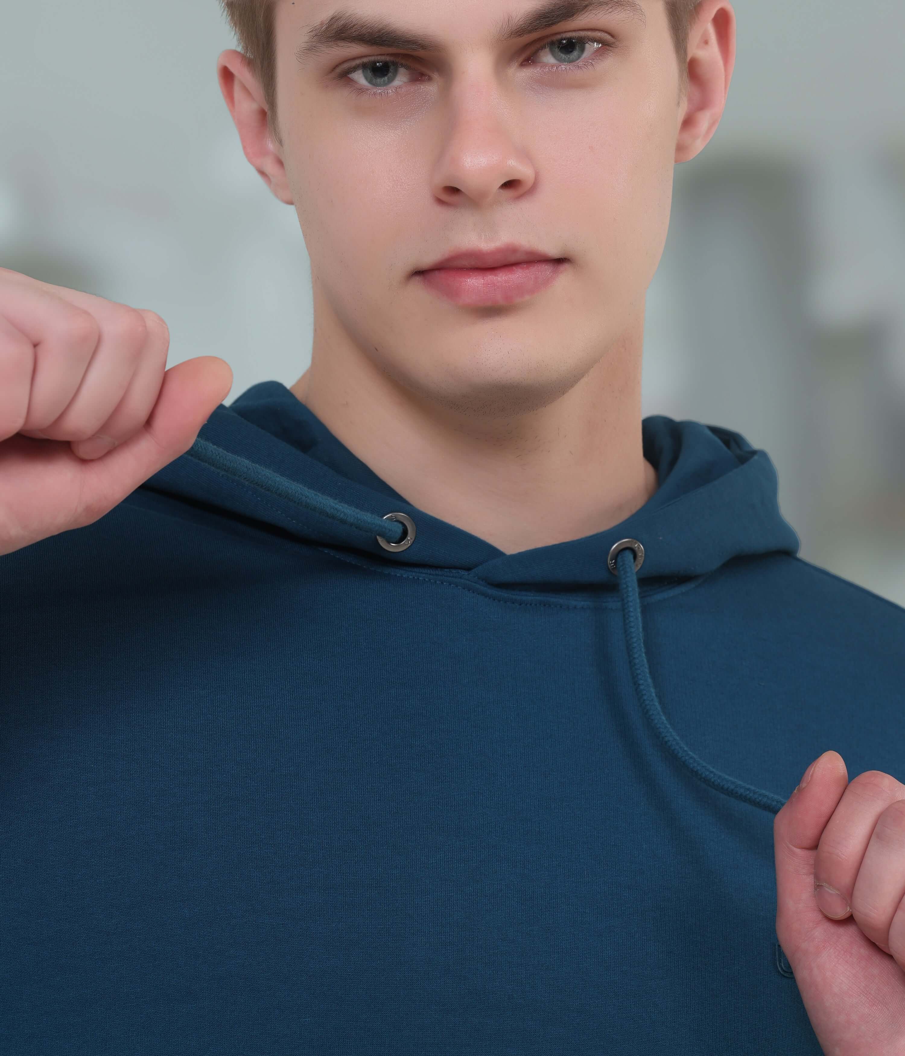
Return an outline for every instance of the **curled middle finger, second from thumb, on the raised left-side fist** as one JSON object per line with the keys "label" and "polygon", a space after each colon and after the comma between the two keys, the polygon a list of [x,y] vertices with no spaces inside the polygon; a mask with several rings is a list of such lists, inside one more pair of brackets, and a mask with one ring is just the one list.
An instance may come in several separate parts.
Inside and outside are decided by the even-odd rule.
{"label": "curled middle finger, second from thumb, on the raised left-side fist", "polygon": [[94,436],[129,388],[148,341],[140,312],[108,303],[98,312],[100,336],[81,382],[62,414],[41,427],[49,440],[84,440]]}

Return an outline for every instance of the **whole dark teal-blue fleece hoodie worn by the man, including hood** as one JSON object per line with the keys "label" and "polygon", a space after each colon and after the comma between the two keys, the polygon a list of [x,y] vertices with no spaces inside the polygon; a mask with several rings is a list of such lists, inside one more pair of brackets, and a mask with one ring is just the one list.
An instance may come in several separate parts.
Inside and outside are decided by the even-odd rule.
{"label": "whole dark teal-blue fleece hoodie worn by the man, including hood", "polygon": [[637,513],[506,554],[266,381],[0,558],[0,1053],[817,1056],[773,819],[905,780],[905,610],[763,451],[643,438]]}

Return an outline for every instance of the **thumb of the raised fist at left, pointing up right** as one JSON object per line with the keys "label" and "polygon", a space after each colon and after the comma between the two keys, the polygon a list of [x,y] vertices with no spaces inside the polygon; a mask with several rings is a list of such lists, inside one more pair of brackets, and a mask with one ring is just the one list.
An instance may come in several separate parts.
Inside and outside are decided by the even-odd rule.
{"label": "thumb of the raised fist at left, pointing up right", "polygon": [[143,428],[102,458],[84,463],[84,469],[102,482],[109,508],[185,454],[231,388],[232,370],[216,356],[171,366]]}

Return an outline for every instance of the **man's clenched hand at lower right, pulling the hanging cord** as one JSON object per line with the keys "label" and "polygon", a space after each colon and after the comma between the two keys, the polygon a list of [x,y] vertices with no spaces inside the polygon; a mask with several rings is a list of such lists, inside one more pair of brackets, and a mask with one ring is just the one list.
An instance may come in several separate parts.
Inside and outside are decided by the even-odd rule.
{"label": "man's clenched hand at lower right, pulling the hanging cord", "polygon": [[905,1056],[905,785],[825,752],[773,824],[776,937],[826,1056]]}

